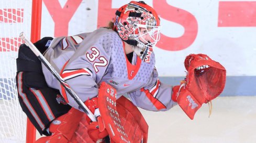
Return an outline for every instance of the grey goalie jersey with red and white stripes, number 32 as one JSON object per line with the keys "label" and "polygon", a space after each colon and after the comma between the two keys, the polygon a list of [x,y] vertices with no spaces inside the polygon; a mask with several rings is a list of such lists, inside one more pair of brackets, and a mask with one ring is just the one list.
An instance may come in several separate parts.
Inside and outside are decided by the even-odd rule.
{"label": "grey goalie jersey with red and white stripes, number 32", "polygon": [[[99,85],[106,82],[116,88],[117,98],[127,94],[135,106],[146,110],[165,111],[176,105],[171,100],[172,86],[158,79],[154,53],[147,63],[133,52],[130,63],[124,42],[111,29],[54,38],[44,57],[82,101],[96,97]],[[78,109],[74,99],[43,64],[42,69],[48,86],[59,89],[65,100]]]}

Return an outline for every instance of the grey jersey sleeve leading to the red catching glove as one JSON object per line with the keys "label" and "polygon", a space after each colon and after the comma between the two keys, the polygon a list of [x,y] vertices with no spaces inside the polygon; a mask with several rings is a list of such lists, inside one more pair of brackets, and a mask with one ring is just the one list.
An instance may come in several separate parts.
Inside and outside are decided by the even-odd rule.
{"label": "grey jersey sleeve leading to the red catching glove", "polygon": [[155,69],[146,87],[128,93],[134,105],[150,111],[166,111],[177,105],[176,102],[172,101],[171,95],[172,86],[161,83]]}

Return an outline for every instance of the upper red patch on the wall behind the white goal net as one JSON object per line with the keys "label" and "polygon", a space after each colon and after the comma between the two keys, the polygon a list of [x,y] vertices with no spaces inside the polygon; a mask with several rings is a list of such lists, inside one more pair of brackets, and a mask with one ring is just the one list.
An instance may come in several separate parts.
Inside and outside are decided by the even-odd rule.
{"label": "upper red patch on the wall behind the white goal net", "polygon": [[0,22],[4,23],[22,23],[24,9],[23,8],[4,8],[0,9]]}

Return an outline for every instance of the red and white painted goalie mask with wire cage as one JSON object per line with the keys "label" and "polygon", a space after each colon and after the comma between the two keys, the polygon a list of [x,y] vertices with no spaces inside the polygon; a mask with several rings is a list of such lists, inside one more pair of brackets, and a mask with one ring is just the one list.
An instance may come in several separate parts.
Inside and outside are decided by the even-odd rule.
{"label": "red and white painted goalie mask with wire cage", "polygon": [[150,61],[153,47],[160,40],[160,19],[144,2],[131,1],[116,11],[114,28],[123,41],[145,62]]}

